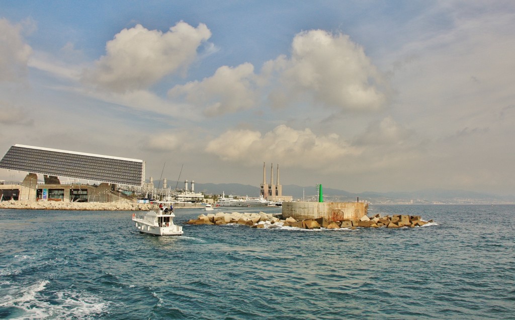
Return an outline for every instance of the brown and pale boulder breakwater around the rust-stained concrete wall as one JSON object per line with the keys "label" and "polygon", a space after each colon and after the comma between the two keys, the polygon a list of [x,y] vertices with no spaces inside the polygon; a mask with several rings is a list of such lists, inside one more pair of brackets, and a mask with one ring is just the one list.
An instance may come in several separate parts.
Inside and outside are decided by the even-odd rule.
{"label": "brown and pale boulder breakwater around the rust-stained concrete wall", "polygon": [[379,214],[373,217],[363,216],[359,220],[343,220],[343,221],[329,221],[326,218],[308,219],[308,220],[295,220],[293,217],[288,217],[281,220],[271,214],[264,212],[260,213],[239,213],[239,212],[217,212],[208,215],[201,214],[197,219],[192,219],[187,223],[190,225],[226,225],[226,224],[241,224],[247,225],[252,228],[277,228],[277,227],[295,227],[301,229],[340,229],[349,228],[356,229],[357,227],[365,228],[402,228],[402,227],[421,227],[428,223],[433,222],[423,221],[419,215],[386,215],[380,216]]}

